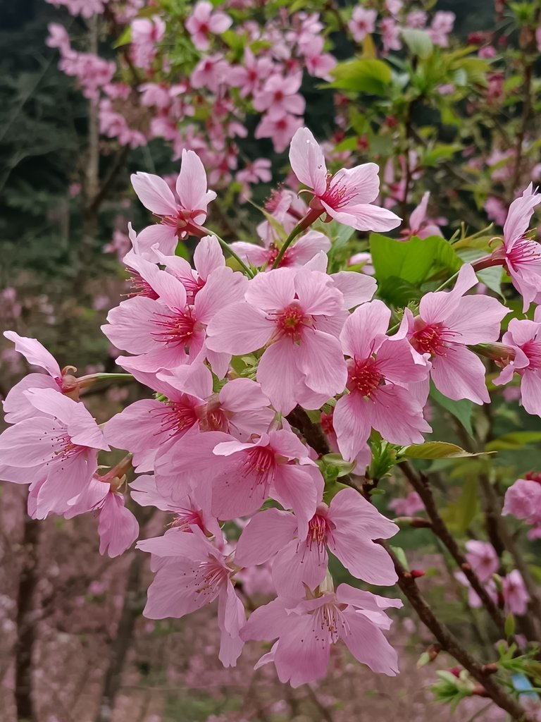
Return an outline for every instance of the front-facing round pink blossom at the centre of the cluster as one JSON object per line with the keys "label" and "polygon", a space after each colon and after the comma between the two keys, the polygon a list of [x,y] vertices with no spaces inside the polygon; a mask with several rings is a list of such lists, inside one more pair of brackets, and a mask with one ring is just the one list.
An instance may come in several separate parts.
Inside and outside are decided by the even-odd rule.
{"label": "front-facing round pink blossom at the centre of the cluster", "polygon": [[242,355],[266,347],[257,379],[283,414],[297,403],[319,408],[343,390],[346,364],[333,328],[335,316],[341,326],[343,296],[329,277],[275,269],[252,279],[245,299],[216,313],[207,329],[209,349]]}

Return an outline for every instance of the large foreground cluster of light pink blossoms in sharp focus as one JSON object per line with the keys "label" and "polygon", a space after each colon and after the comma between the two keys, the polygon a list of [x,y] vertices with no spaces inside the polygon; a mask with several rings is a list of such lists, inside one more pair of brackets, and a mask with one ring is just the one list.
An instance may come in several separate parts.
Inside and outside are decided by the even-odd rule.
{"label": "large foreground cluster of light pink blossoms in sharp focus", "polygon": [[[27,375],[4,401],[0,477],[30,484],[35,518],[97,512],[100,551],[115,556],[138,536],[124,503],[133,466],[133,500],[173,515],[163,536],[137,543],[155,573],[144,614],[182,617],[217,600],[223,664],[236,664],[247,640],[273,641],[258,664],[273,662],[279,679],[296,687],[325,674],[340,640],[373,671],[396,674],[397,653],[383,632],[385,610],[402,604],[346,583],[335,588],[329,552],[357,580],[396,582],[377,542],[397,525],[356,489],[326,485],[303,419],[317,419],[329,448],[364,474],[374,437],[400,449],[431,431],[430,380],[448,399],[490,401],[479,348],[501,365],[501,383],[519,375],[524,408],[539,414],[541,319],[538,310],[534,321],[514,319],[498,344],[509,309],[491,295],[469,294],[480,287],[474,267],[462,264],[452,290],[426,292],[391,326],[396,309],[374,298],[374,278],[327,272],[331,243],[323,232],[331,220],[361,232],[400,225],[377,204],[378,166],[328,173],[305,128],[294,134],[289,158],[309,203],[278,192],[273,221],[295,225],[280,240],[268,221],[268,243],[253,248],[227,246],[204,225],[216,194],[192,150],[182,152],[175,191],[157,175],[133,175],[157,222],[138,234],[130,229],[130,292],[102,330],[128,354],[118,365],[150,397],[99,427],[79,396],[99,375],[76,378],[38,341],[7,332],[46,373]],[[527,188],[511,205],[501,248],[480,264],[505,266],[524,308],[540,273],[538,245],[527,235],[536,204]],[[311,229],[315,222],[322,230]],[[175,255],[187,235],[198,238],[193,266]],[[234,256],[230,266],[224,251]],[[111,447],[128,456],[98,474],[99,455]],[[232,521],[242,529],[238,539],[224,528]],[[246,619],[243,574],[256,565],[270,568],[276,599]],[[488,567],[485,579],[491,560]],[[517,573],[502,585],[506,604],[522,613],[527,595]]]}

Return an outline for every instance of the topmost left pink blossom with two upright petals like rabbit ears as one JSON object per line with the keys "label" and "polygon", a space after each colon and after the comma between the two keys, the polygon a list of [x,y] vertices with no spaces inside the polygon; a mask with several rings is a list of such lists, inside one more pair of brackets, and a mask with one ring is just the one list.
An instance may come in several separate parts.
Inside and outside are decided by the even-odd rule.
{"label": "topmost left pink blossom with two upright petals like rabbit ears", "polygon": [[206,209],[216,198],[207,190],[205,168],[193,150],[182,151],[182,165],[177,178],[178,201],[167,183],[159,175],[134,173],[131,183],[141,203],[160,219],[160,225],[151,225],[138,234],[138,242],[149,250],[157,244],[162,253],[173,254],[178,238],[197,231],[205,222]]}

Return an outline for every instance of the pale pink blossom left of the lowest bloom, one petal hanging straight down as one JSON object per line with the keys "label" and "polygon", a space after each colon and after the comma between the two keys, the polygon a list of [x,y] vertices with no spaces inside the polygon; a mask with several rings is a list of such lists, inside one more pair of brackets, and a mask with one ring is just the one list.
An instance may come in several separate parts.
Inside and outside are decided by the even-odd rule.
{"label": "pale pink blossom left of the lowest bloom, one petal hanging straight down", "polygon": [[245,609],[234,591],[234,569],[229,558],[216,549],[198,526],[191,534],[170,529],[164,536],[138,541],[137,548],[159,560],[146,606],[149,619],[184,617],[218,600],[221,630],[219,658],[224,666],[234,666],[242,651],[239,630],[245,622]]}

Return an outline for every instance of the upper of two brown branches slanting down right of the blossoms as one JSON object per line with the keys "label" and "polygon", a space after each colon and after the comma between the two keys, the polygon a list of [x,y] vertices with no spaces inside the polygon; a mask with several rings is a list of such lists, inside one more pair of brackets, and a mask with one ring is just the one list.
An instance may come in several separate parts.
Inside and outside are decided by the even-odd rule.
{"label": "upper of two brown branches slanting down right of the blossoms", "polygon": [[409,461],[401,461],[398,464],[403,474],[408,479],[408,482],[412,485],[413,489],[421,497],[421,500],[426,508],[428,518],[432,522],[432,531],[439,539],[441,539],[444,546],[448,549],[449,554],[453,557],[454,561],[457,562],[459,569],[464,573],[468,582],[470,583],[473,591],[478,595],[479,599],[483,603],[483,606],[490,614],[494,624],[498,627],[498,630],[503,636],[505,635],[505,619],[501,610],[494,603],[490,594],[486,590],[485,586],[480,582],[479,577],[472,570],[472,567],[467,562],[464,554],[462,554],[456,539],[452,536],[451,532],[447,528],[447,524],[441,518],[434,496],[428,482],[428,478],[421,471],[415,471]]}

